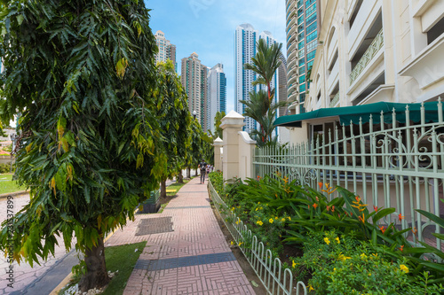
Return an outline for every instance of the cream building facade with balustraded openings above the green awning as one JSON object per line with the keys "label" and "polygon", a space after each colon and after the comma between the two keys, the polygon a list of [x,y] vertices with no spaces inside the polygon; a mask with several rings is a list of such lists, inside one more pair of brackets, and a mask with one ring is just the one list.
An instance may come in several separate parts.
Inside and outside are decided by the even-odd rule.
{"label": "cream building facade with balustraded openings above the green awning", "polygon": [[[307,112],[444,97],[444,1],[319,4],[320,44],[305,100]],[[337,117],[303,120],[302,128],[293,128],[299,139],[293,136],[292,142],[314,138],[337,122]]]}

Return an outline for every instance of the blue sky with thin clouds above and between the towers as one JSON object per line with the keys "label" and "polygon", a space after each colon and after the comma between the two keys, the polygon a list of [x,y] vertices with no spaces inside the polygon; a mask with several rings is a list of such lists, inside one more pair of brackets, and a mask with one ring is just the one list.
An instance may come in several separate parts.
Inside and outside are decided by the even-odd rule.
{"label": "blue sky with thin clouds above and between the towers", "polygon": [[[180,60],[196,52],[205,66],[224,65],[227,111],[234,109],[234,30],[245,22],[285,47],[285,0],[145,0],[153,34],[163,31]],[[282,52],[286,55],[286,52]]]}

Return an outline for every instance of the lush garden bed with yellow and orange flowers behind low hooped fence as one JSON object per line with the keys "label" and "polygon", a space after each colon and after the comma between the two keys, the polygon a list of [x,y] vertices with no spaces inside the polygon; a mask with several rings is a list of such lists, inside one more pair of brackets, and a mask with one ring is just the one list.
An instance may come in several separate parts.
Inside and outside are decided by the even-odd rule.
{"label": "lush garden bed with yellow and orange flowers behind low hooped fence", "polygon": [[[286,275],[287,281],[280,284],[258,274],[269,289],[284,290],[295,277],[306,283],[308,294],[443,291],[444,253],[419,241],[412,247],[408,238],[416,240],[415,229],[398,230],[395,223],[383,221],[393,208],[369,213],[361,198],[328,183],[319,183],[319,192],[280,177],[236,180],[226,188],[222,175],[212,173],[210,180],[212,195],[220,198],[213,201],[253,268],[274,276],[281,269]],[[337,198],[331,198],[334,191]]]}

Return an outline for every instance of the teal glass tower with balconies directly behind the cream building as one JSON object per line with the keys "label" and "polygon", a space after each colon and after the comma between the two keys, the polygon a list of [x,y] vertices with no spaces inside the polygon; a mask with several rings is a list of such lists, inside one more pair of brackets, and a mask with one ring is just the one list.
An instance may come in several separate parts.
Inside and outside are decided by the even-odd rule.
{"label": "teal glass tower with balconies directly behind the cream building", "polygon": [[291,113],[304,113],[309,72],[318,45],[316,0],[287,0],[287,84]]}

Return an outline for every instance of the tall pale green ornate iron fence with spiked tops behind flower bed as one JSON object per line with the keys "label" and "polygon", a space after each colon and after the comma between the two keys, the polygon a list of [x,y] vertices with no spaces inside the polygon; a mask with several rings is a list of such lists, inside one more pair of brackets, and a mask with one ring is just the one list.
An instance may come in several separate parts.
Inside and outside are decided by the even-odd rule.
{"label": "tall pale green ornate iron fence with spiked tops behind flower bed", "polygon": [[[444,217],[444,122],[439,100],[436,113],[381,113],[379,122],[339,125],[315,136],[311,143],[288,148],[257,148],[253,160],[253,177],[270,175],[297,179],[313,189],[329,183],[351,190],[365,204],[394,207],[396,212],[385,219],[416,238],[441,248],[441,240],[432,233],[442,233],[440,226],[415,209]],[[400,123],[397,121],[401,115]],[[415,117],[416,123],[410,120]],[[432,117],[434,122],[431,122]],[[399,120],[399,118],[398,118]],[[335,195],[331,195],[330,198]],[[370,210],[372,211],[372,210]],[[400,216],[404,219],[399,221]],[[442,249],[442,248],[441,248]]]}

